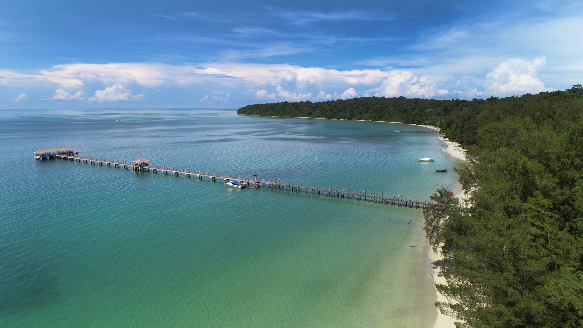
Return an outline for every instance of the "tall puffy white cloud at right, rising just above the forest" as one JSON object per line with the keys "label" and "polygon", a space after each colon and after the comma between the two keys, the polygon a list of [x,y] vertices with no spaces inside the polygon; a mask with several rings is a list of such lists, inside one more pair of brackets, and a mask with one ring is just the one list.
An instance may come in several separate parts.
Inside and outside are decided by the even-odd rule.
{"label": "tall puffy white cloud at right, rising just above the forest", "polygon": [[500,62],[493,71],[486,75],[486,93],[495,96],[539,93],[552,90],[545,88],[536,71],[546,63],[546,57],[536,58],[532,62],[521,58],[511,58]]}

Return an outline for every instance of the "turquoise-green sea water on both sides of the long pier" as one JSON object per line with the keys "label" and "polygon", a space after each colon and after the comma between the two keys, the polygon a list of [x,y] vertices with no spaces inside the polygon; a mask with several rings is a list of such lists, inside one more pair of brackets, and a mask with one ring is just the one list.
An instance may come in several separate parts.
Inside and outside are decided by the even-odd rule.
{"label": "turquoise-green sea water on both sides of the long pier", "polygon": [[68,146],[389,196],[454,186],[437,134],[384,132],[402,128],[231,109],[2,111],[0,326],[431,327],[428,249],[409,247],[427,246],[420,210],[33,159]]}

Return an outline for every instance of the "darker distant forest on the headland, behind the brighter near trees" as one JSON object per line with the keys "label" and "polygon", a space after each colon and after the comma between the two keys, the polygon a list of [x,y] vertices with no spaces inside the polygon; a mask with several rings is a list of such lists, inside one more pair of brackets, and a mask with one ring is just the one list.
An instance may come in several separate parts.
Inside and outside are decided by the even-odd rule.
{"label": "darker distant forest on the headland, behind the brighter near trees", "polygon": [[[555,92],[526,94],[520,97],[490,97],[473,100],[435,100],[406,97],[362,97],[327,102],[283,102],[251,104],[241,107],[237,114],[259,116],[290,116],[313,118],[336,118],[338,120],[366,120],[425,124],[440,127],[445,137],[466,146],[475,144],[477,126],[484,117],[498,108],[515,110],[516,106],[531,106],[550,99],[574,99],[581,97],[583,90],[572,89]],[[520,105],[518,105],[520,103]],[[522,108],[522,107],[521,107]],[[520,108],[516,108],[519,110]],[[484,114],[485,113],[485,114]]]}

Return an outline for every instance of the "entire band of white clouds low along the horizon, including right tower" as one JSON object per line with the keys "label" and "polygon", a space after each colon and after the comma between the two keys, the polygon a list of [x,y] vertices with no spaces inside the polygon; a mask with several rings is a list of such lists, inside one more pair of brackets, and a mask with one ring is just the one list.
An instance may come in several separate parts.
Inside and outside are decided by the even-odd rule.
{"label": "entire band of white clouds low along the horizon, including right tower", "polygon": [[[457,34],[456,34],[457,35]],[[461,35],[461,34],[459,34]],[[538,71],[546,58],[533,61],[511,58],[489,62],[479,74],[466,74],[468,62],[451,76],[434,75],[431,69],[328,69],[289,64],[210,62],[187,65],[157,63],[64,64],[27,74],[0,70],[0,84],[39,85],[56,83],[53,101],[115,102],[141,100],[128,88],[182,88],[196,86],[198,102],[243,103],[260,99],[276,101],[326,101],[361,96],[488,97],[536,93],[544,90]],[[458,63],[459,64],[459,63]],[[486,64],[484,64],[486,65]],[[429,69],[429,71],[427,70]],[[486,72],[489,72],[486,75]],[[455,75],[454,75],[455,74]],[[78,89],[86,83],[102,83],[101,90],[86,99]],[[131,86],[131,87],[130,87]],[[75,93],[73,93],[76,90]],[[324,90],[328,91],[325,92]],[[344,91],[342,91],[344,90]],[[221,92],[222,95],[217,95]],[[27,91],[30,94],[30,92]],[[213,94],[215,96],[213,96]],[[205,96],[206,95],[206,96]],[[233,96],[231,96],[233,95]],[[192,99],[192,98],[191,98]],[[191,101],[189,99],[188,101]]]}

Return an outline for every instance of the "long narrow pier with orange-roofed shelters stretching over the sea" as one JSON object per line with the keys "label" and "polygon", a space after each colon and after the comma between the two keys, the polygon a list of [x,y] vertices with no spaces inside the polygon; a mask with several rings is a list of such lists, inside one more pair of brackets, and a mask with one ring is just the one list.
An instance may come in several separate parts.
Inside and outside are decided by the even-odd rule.
{"label": "long narrow pier with orange-roofed shelters stretching over the sea", "polygon": [[[198,179],[204,179],[205,177],[216,181],[216,179],[222,179],[225,183],[229,181],[236,181],[238,183],[244,184],[246,187],[251,188],[268,188],[274,190],[290,191],[294,193],[306,193],[315,196],[322,197],[333,197],[342,198],[350,200],[361,200],[368,201],[371,203],[387,204],[387,205],[398,205],[411,208],[426,208],[428,205],[436,205],[431,201],[420,200],[420,198],[400,198],[400,197],[387,197],[378,194],[365,194],[365,193],[353,193],[350,190],[335,190],[333,188],[320,188],[313,186],[301,186],[294,183],[282,183],[279,180],[266,180],[259,179],[257,175],[252,177],[244,177],[240,175],[228,175],[222,173],[205,172],[198,170],[187,170],[187,169],[177,169],[170,168],[167,166],[155,166],[150,165],[150,160],[145,158],[136,159],[133,162],[123,162],[120,160],[111,159],[100,159],[87,156],[80,156],[78,152],[75,153],[75,149],[72,148],[52,148],[52,149],[41,149],[34,152],[34,159],[44,160],[44,159],[65,159],[65,160],[75,160],[76,162],[90,163],[96,165],[114,166],[117,168],[124,168],[136,171],[147,171],[152,173],[161,172],[163,174],[172,173],[174,176],[180,176],[181,174],[185,177],[198,177]],[[456,208],[456,210],[467,210],[467,208]]]}

